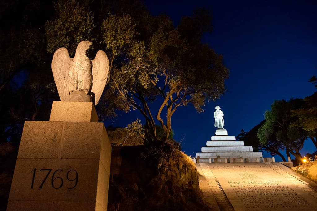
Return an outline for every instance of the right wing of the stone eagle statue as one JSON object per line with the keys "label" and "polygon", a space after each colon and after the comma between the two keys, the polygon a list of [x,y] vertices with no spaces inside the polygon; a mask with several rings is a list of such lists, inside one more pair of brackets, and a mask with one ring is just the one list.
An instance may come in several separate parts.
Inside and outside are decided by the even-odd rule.
{"label": "right wing of the stone eagle statue", "polygon": [[107,54],[99,50],[94,60],[91,60],[92,74],[93,74],[93,85],[91,92],[94,93],[95,105],[98,104],[101,94],[105,88],[105,85],[109,76],[109,59]]}

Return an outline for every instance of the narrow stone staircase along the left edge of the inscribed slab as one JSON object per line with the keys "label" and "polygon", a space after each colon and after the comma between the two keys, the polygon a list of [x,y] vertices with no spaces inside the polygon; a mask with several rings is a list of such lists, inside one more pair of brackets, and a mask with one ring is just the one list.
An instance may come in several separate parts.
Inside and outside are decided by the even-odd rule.
{"label": "narrow stone staircase along the left edge of the inscribed slab", "polygon": [[199,164],[201,170],[203,171],[207,183],[210,187],[211,192],[215,196],[217,205],[221,211],[234,211],[233,206],[231,205],[227,195],[224,193],[221,185],[219,184],[218,180],[212,173],[211,169],[209,168],[207,163]]}

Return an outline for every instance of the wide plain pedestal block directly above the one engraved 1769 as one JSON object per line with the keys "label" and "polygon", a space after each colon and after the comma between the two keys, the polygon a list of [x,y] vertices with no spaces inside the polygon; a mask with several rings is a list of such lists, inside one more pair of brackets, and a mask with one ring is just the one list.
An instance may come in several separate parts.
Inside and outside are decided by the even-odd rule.
{"label": "wide plain pedestal block directly above the one engraved 1769", "polygon": [[[104,140],[104,141],[100,141]],[[102,122],[26,121],[18,158],[99,159],[110,168],[111,145]]]}

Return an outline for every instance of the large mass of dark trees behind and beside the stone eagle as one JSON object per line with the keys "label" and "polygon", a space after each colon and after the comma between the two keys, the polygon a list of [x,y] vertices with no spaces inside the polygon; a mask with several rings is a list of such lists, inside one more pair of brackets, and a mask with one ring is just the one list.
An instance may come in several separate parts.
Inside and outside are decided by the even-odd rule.
{"label": "large mass of dark trees behind and beside the stone eagle", "polygon": [[[179,106],[192,104],[202,112],[205,102],[225,91],[229,70],[222,56],[201,43],[202,36],[212,31],[212,16],[205,9],[195,10],[175,27],[167,16],[153,17],[133,0],[5,0],[1,6],[5,27],[0,33],[5,39],[0,49],[4,55],[0,93],[24,68],[32,75],[25,86],[32,90],[33,98],[42,90],[41,97],[34,98],[33,111],[46,106],[44,99],[51,103],[57,97],[50,72],[53,53],[66,47],[74,55],[83,40],[93,42],[88,56],[101,49],[110,60],[111,79],[97,107],[99,117],[115,116],[118,109],[139,109],[149,140],[168,139],[171,117]],[[12,20],[11,24],[6,20]],[[36,74],[45,80],[39,82]],[[151,104],[154,101],[158,107]],[[10,112],[12,109],[4,110],[14,119],[17,112]],[[34,114],[23,118],[37,119],[39,113]],[[164,131],[161,137],[156,133],[157,123]]]}

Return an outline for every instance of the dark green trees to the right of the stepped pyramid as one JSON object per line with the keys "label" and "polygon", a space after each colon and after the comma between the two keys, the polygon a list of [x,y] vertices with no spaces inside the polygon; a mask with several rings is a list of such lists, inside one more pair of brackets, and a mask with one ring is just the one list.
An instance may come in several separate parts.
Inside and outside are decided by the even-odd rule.
{"label": "dark green trees to the right of the stepped pyramid", "polygon": [[[316,77],[313,76],[309,82],[316,86]],[[256,149],[279,155],[283,161],[287,161],[281,154],[285,150],[287,156],[293,155],[301,163],[300,150],[305,142],[313,142],[315,148],[311,153],[317,152],[316,102],[317,92],[304,99],[277,100],[271,105],[271,110],[265,112],[265,120],[249,132],[242,130],[238,138]]]}

